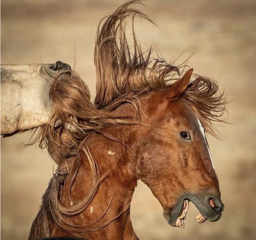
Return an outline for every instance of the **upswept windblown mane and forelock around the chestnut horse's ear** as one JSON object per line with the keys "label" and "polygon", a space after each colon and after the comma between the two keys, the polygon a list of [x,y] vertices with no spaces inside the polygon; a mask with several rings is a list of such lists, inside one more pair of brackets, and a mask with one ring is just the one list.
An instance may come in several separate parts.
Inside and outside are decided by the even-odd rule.
{"label": "upswept windblown mane and forelock around the chestnut horse's ear", "polygon": [[[112,109],[123,98],[139,96],[158,90],[177,80],[187,66],[173,66],[162,58],[152,58],[153,48],[143,53],[134,33],[134,17],[151,19],[136,9],[127,9],[130,1],[120,6],[110,17],[100,21],[95,46],[97,74],[95,105],[98,109]],[[132,18],[133,48],[126,39],[126,19]],[[221,122],[225,111],[223,93],[218,95],[214,80],[196,76],[184,97],[198,115],[208,133],[216,136],[212,121]],[[216,95],[217,94],[217,95]]]}

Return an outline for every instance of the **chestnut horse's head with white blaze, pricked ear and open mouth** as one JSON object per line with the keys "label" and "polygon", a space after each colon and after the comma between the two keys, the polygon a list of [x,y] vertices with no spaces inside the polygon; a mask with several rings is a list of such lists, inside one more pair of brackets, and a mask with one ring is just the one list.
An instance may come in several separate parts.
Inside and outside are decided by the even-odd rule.
{"label": "chestnut horse's head with white blaze, pricked ear and open mouth", "polygon": [[136,175],[157,197],[169,224],[180,228],[190,201],[200,212],[199,223],[219,220],[224,209],[205,130],[181,97],[191,74],[192,69],[172,86],[142,98],[144,123],[152,127],[142,125],[133,133]]}

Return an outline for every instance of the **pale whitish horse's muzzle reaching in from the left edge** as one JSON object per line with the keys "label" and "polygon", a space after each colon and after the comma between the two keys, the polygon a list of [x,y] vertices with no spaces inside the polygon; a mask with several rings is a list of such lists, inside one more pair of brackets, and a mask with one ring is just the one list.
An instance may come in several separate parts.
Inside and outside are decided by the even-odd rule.
{"label": "pale whitish horse's muzzle reaching in from the left edge", "polygon": [[67,63],[1,65],[1,138],[46,123],[52,112],[49,89]]}

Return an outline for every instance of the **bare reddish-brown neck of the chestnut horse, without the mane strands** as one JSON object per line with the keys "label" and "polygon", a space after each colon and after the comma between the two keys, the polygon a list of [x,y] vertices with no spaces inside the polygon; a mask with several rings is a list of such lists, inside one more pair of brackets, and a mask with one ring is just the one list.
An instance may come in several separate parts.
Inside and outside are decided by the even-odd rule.
{"label": "bare reddish-brown neck of the chestnut horse, without the mane strands", "polygon": [[[133,119],[136,119],[137,112],[131,104],[121,105],[118,111],[117,115],[128,112]],[[70,176],[76,176],[71,188],[72,200],[69,197],[70,178],[63,188],[64,205],[73,206],[73,203],[86,202],[86,208],[77,216],[79,225],[80,222],[83,222],[83,225],[90,225],[98,218],[100,218],[99,224],[109,222],[106,228],[100,229],[109,236],[109,239],[138,239],[132,229],[129,209],[138,180],[131,156],[140,127],[141,125],[138,124],[119,124],[103,129],[102,133],[91,133],[84,147],[89,149],[89,153],[97,163],[99,175],[105,178],[100,181],[93,197],[87,197],[86,195],[92,192],[92,186],[95,185],[93,182],[95,174],[93,175],[88,154],[81,151],[78,173],[72,174],[73,167],[70,168]],[[75,166],[76,162],[71,162],[71,166]],[[112,221],[115,219],[118,221]],[[93,237],[97,237],[97,234],[99,238],[101,236],[98,231],[91,231],[91,234]]]}

